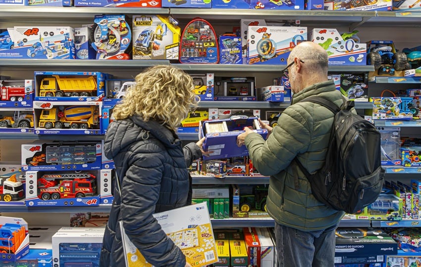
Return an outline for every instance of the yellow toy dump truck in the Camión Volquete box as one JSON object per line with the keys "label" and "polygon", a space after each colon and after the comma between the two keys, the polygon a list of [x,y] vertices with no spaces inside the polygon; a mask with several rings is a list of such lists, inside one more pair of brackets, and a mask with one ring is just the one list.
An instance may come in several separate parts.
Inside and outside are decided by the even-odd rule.
{"label": "yellow toy dump truck in the Cami\u00f3n Volquete box", "polygon": [[41,80],[40,96],[97,96],[97,82],[94,76],[52,76]]}

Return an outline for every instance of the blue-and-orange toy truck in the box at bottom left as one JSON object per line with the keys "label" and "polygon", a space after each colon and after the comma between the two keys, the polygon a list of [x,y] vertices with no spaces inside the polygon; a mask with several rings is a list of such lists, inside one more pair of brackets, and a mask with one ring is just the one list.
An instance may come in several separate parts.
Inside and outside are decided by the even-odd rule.
{"label": "blue-and-orange toy truck in the box at bottom left", "polygon": [[6,223],[0,225],[0,253],[15,253],[26,237],[23,225]]}

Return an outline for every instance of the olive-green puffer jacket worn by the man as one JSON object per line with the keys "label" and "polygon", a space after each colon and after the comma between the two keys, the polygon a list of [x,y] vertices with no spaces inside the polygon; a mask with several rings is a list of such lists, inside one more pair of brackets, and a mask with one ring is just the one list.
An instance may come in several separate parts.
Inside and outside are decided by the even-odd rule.
{"label": "olive-green puffer jacket worn by the man", "polygon": [[312,195],[310,183],[300,171],[298,160],[310,172],[320,169],[326,157],[333,114],[327,108],[298,101],[317,95],[340,106],[344,97],[332,81],[318,83],[294,94],[266,142],[261,135],[248,134],[245,144],[256,169],[270,176],[267,211],[279,224],[302,231],[321,230],[338,223],[344,212],[333,210]]}

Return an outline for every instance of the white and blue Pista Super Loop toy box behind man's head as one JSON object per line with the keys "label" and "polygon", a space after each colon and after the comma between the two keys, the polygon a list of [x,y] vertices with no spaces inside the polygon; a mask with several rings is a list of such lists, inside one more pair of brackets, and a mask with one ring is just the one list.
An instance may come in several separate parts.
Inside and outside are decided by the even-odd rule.
{"label": "white and blue Pista Super Loop toy box behind man's head", "polygon": [[286,64],[290,51],[307,40],[307,27],[249,26],[248,64]]}

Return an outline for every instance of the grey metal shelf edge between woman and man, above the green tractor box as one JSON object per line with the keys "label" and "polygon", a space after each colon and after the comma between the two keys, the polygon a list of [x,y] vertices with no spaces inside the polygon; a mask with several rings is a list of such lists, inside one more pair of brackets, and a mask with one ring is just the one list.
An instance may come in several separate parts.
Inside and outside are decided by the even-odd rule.
{"label": "grey metal shelf edge between woman and man, above the green tractor box", "polygon": [[230,176],[214,178],[208,176],[193,176],[193,184],[266,184],[269,177]]}

